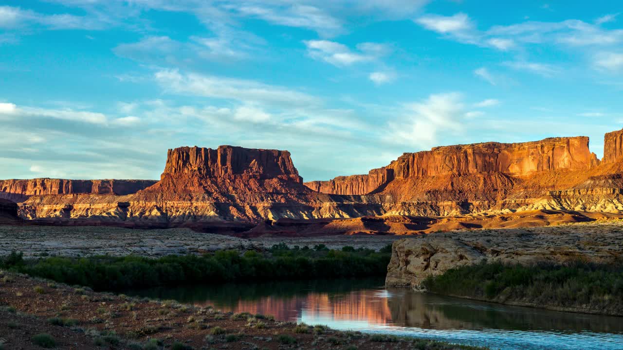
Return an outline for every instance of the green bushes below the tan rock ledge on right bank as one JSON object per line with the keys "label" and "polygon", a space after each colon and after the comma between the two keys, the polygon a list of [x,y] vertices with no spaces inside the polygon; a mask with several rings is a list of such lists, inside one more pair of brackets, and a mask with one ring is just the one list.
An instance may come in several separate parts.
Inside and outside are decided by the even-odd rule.
{"label": "green bushes below the tan rock ledge on right bank", "polygon": [[481,263],[428,277],[433,293],[557,308],[623,312],[623,263],[504,265]]}

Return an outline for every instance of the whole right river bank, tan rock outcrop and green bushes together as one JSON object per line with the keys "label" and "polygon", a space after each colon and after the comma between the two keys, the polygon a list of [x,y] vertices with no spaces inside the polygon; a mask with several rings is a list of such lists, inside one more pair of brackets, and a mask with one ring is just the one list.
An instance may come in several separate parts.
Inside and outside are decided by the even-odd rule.
{"label": "whole right river bank, tan rock outcrop and green bushes together", "polygon": [[623,225],[447,232],[392,245],[386,285],[623,316]]}

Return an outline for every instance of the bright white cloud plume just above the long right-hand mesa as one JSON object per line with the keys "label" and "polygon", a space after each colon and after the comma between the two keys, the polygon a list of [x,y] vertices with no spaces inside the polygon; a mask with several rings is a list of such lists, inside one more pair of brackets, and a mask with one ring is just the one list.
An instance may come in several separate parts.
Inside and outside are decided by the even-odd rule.
{"label": "bright white cloud plume just above the long right-hand mesa", "polygon": [[430,95],[423,102],[410,103],[404,108],[403,118],[388,124],[393,142],[430,148],[437,144],[439,133],[462,130],[465,113],[459,93]]}

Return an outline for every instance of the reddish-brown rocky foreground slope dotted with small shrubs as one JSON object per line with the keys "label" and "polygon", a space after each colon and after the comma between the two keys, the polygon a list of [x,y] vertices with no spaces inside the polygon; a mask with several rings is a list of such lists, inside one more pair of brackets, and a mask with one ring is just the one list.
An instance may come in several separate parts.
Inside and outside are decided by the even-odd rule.
{"label": "reddish-brown rocky foreground slope dotted with small shrubs", "polygon": [[[47,346],[46,344],[49,344]],[[474,349],[95,293],[0,272],[0,349]]]}

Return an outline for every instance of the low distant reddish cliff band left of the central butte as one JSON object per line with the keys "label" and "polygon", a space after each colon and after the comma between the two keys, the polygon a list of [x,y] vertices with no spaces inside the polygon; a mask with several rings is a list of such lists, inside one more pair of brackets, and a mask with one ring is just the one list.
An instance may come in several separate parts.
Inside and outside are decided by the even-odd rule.
{"label": "low distant reddish cliff band left of the central butte", "polygon": [[124,196],[145,189],[153,180],[67,180],[28,179],[0,180],[0,198],[13,202],[26,201],[31,196],[49,194],[117,194]]}

